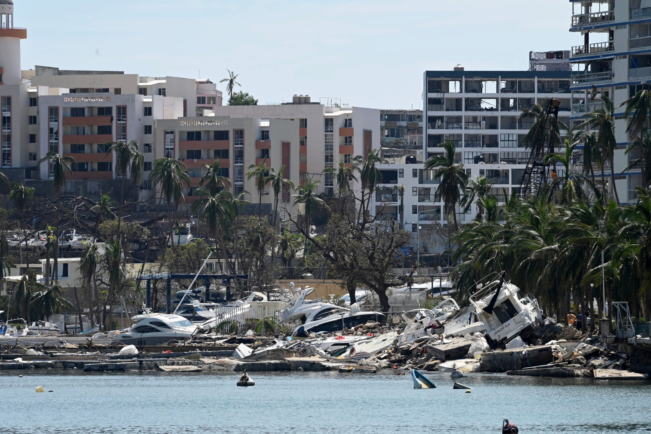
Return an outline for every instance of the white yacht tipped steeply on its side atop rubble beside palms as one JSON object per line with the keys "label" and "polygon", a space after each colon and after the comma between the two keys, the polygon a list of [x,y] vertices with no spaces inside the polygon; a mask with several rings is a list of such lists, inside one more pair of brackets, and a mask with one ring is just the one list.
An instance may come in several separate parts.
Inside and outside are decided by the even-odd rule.
{"label": "white yacht tipped steeply on its side atop rubble beside palms", "polygon": [[477,309],[477,316],[486,329],[486,343],[493,349],[520,336],[527,338],[542,331],[542,312],[533,295],[519,294],[520,289],[505,282],[505,273],[499,280],[477,284],[477,292],[468,300]]}

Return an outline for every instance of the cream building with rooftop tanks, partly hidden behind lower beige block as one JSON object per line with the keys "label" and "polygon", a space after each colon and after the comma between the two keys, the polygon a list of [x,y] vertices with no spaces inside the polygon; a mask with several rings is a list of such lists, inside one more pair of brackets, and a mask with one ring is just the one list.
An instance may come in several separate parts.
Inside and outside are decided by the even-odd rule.
{"label": "cream building with rooftop tanks, partly hidden behind lower beige block", "polygon": [[311,102],[309,96],[302,98],[294,96],[291,103],[279,105],[221,105],[215,107],[214,116],[298,121],[299,180],[318,180],[319,193],[333,195],[335,176],[323,170],[337,167],[340,159],[352,165],[353,157],[380,148],[380,110],[336,107]]}

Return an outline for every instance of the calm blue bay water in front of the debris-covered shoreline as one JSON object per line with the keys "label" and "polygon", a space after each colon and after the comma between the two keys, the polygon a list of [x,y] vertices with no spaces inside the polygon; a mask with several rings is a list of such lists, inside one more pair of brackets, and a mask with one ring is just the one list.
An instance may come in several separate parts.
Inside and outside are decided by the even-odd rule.
{"label": "calm blue bay water in front of the debris-covered shoreline", "polygon": [[[23,378],[19,378],[19,374]],[[651,431],[651,383],[449,373],[415,390],[395,372],[0,373],[0,433],[520,433]],[[52,393],[36,393],[42,385]]]}

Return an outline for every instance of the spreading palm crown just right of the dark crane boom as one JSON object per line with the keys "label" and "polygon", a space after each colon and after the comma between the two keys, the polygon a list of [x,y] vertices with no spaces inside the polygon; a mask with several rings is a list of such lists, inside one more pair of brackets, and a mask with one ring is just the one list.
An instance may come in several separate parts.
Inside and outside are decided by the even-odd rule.
{"label": "spreading palm crown just right of the dark crane boom", "polygon": [[[587,201],[588,196],[583,189],[583,184],[588,182],[592,189],[596,190],[596,185],[590,180],[590,178],[584,178],[583,174],[572,172],[572,154],[577,146],[577,143],[570,144],[569,140],[565,141],[565,150],[564,154],[547,154],[543,158],[543,164],[545,165],[554,165],[554,167],[561,163],[564,167],[564,176],[554,178],[553,174],[557,173],[556,169],[552,169],[552,180],[551,183],[547,186],[550,192],[558,191],[560,193],[561,204],[568,205],[574,200]],[[552,195],[549,195],[551,200]]]}

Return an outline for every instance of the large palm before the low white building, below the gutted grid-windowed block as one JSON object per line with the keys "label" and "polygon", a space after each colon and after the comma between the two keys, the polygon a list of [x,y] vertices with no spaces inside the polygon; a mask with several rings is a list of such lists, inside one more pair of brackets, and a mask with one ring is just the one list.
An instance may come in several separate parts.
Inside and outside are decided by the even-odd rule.
{"label": "large palm before the low white building, below the gutted grid-windowed block", "polygon": [[445,213],[447,213],[448,219],[450,214],[452,215],[454,228],[458,230],[456,204],[459,202],[461,192],[468,183],[468,176],[465,174],[464,165],[456,164],[454,143],[445,141],[442,145],[445,152],[429,157],[423,166],[423,170],[436,170],[434,176],[441,180],[436,188],[436,195],[443,199]]}

